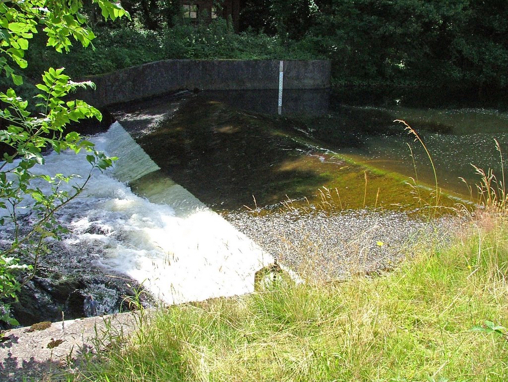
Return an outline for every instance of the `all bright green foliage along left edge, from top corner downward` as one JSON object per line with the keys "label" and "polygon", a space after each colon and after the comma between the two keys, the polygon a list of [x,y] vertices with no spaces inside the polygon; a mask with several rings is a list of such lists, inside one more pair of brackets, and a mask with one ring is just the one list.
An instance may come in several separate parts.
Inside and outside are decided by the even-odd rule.
{"label": "all bright green foliage along left edge, from top corner downward", "polygon": [[[93,3],[105,18],[114,20],[126,15],[118,4],[108,0],[93,0]],[[76,132],[65,131],[71,121],[101,118],[97,109],[67,97],[76,88],[93,84],[73,82],[63,73],[63,68],[50,67],[40,73],[42,81],[35,85],[37,94],[30,100],[35,101],[31,108],[32,102],[16,92],[23,83],[20,69],[30,63],[25,53],[35,34],[44,32],[46,45],[57,52],[69,51],[71,39],[85,47],[94,39],[86,18],[80,13],[81,8],[80,0],[0,2],[0,68],[8,81],[12,80],[10,85],[14,85],[0,92],[0,227],[10,233],[9,239],[4,236],[0,241],[0,321],[11,324],[16,322],[10,318],[9,302],[34,276],[39,257],[48,250],[48,239],[58,238],[63,232],[55,212],[84,189],[93,169],[105,169],[113,160],[94,150],[93,144]],[[37,113],[31,112],[34,109]],[[46,150],[88,151],[88,177],[69,190],[62,186],[75,176],[34,171],[36,166],[44,164]]]}

